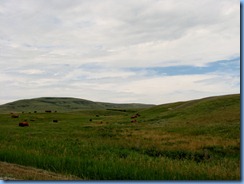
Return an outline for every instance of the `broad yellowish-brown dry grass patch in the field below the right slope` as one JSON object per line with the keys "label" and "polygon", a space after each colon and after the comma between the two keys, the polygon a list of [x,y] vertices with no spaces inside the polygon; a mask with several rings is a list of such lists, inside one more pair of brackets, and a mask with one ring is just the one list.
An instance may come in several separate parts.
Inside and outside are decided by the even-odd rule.
{"label": "broad yellowish-brown dry grass patch in the field below the right slope", "polygon": [[206,146],[237,146],[238,140],[223,139],[207,135],[182,135],[179,133],[162,132],[157,130],[138,130],[123,133],[126,140],[131,143],[140,142],[144,147],[154,146],[167,150],[198,150]]}

